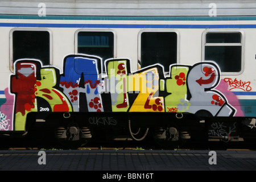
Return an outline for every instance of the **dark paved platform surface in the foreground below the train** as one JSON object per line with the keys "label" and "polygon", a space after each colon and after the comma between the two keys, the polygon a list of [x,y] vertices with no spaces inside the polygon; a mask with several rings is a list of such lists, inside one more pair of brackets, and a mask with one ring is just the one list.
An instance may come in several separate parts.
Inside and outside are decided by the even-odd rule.
{"label": "dark paved platform surface in the foreground below the train", "polygon": [[[44,155],[45,152],[45,155]],[[6,150],[1,171],[256,171],[256,151]],[[210,162],[209,162],[210,161]],[[212,164],[210,164],[212,163]]]}

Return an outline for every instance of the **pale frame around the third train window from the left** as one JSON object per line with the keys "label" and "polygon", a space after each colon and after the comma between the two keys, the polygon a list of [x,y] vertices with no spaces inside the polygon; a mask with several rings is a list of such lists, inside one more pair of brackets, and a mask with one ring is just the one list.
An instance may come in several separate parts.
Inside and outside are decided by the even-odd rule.
{"label": "pale frame around the third train window from the left", "polygon": [[[177,30],[174,29],[143,29],[141,31],[139,31],[138,34],[138,69],[142,69],[141,68],[141,64],[139,62],[141,62],[141,35],[143,32],[174,32],[177,35],[177,60],[176,60],[176,65],[180,64],[180,33]],[[157,63],[155,63],[157,64]],[[159,63],[160,64],[160,63]],[[172,64],[174,65],[174,64]],[[169,66],[169,71],[165,72],[164,70],[164,75],[170,75],[170,66]],[[164,69],[164,68],[163,68]]]}

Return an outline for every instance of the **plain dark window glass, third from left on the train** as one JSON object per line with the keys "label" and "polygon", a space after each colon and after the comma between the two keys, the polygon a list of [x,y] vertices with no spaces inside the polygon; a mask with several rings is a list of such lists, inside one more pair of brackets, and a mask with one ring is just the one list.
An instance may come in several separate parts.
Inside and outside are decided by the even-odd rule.
{"label": "plain dark window glass, third from left on the train", "polygon": [[176,32],[168,31],[142,31],[139,61],[141,67],[159,63],[163,65],[164,72],[169,72],[170,65],[178,60]]}

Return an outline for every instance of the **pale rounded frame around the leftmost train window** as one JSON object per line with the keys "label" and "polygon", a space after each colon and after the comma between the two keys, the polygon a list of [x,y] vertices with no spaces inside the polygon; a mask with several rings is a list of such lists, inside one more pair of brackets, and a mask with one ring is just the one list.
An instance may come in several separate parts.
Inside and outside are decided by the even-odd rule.
{"label": "pale rounded frame around the leftmost train window", "polygon": [[[14,60],[13,60],[13,32],[14,31],[47,31],[49,33],[49,66],[50,65],[53,65],[52,63],[52,56],[53,56],[53,52],[52,52],[52,31],[49,30],[48,28],[13,28],[10,30],[10,33],[9,33],[9,68],[10,68],[10,71],[14,73]],[[26,58],[24,58],[26,59]],[[39,60],[39,59],[31,59],[31,57],[27,57],[28,60]],[[19,59],[18,59],[19,60]],[[40,60],[40,62],[42,63],[42,61]],[[42,63],[42,67],[43,66],[46,66],[46,65],[43,65]]]}

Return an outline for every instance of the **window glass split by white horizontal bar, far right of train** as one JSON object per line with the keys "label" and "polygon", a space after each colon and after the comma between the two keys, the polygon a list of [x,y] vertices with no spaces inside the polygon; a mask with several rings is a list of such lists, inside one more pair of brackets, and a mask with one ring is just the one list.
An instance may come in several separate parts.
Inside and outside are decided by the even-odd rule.
{"label": "window glass split by white horizontal bar, far right of train", "polygon": [[243,71],[242,32],[207,32],[204,38],[204,60],[215,61],[223,75]]}

